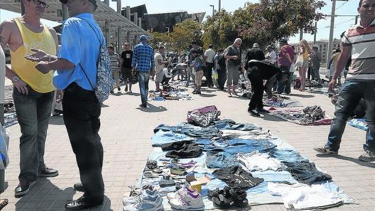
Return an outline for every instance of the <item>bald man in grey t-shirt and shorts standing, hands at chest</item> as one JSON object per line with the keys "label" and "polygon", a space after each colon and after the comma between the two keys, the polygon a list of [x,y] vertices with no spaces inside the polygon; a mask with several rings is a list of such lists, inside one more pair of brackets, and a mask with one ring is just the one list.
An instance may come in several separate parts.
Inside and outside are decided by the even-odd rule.
{"label": "bald man in grey t-shirt and shorts standing, hands at chest", "polygon": [[[242,39],[237,38],[232,45],[229,45],[225,49],[225,59],[226,59],[226,87],[228,89],[228,96],[231,97],[232,93],[237,95],[236,87],[239,81],[239,69],[244,71],[242,64]],[[231,90],[232,88],[232,90]]]}

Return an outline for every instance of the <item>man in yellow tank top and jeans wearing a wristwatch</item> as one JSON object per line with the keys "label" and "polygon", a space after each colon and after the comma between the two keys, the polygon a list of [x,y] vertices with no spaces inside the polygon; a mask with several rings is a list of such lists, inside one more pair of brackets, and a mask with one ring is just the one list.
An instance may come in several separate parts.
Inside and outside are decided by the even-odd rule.
{"label": "man in yellow tank top and jeans wearing a wristwatch", "polygon": [[[26,13],[22,17],[6,20],[0,25],[1,46],[10,49],[11,68],[6,68],[6,77],[13,82],[13,99],[20,137],[20,184],[15,196],[22,196],[30,190],[38,176],[57,176],[57,170],[44,164],[44,145],[55,87],[52,75],[42,74],[35,69],[37,62],[25,58],[41,49],[55,55],[57,35],[40,23],[48,5],[46,0],[23,0]],[[48,60],[48,58],[45,58]]]}

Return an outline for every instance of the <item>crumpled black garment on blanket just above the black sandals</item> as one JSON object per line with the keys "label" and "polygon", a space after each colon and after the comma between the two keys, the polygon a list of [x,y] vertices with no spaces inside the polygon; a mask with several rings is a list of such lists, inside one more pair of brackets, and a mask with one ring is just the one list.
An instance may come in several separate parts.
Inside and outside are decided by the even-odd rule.
{"label": "crumpled black garment on blanket just above the black sandals", "polygon": [[248,190],[264,181],[262,178],[253,177],[240,166],[231,166],[224,169],[214,170],[212,173],[216,178],[224,181],[230,188]]}

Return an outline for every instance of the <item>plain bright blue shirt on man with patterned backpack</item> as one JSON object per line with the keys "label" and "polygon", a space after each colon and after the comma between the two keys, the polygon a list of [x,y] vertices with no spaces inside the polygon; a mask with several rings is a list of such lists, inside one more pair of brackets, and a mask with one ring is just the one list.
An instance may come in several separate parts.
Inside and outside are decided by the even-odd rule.
{"label": "plain bright blue shirt on man with patterned backpack", "polygon": [[[88,24],[93,27],[95,32]],[[105,42],[93,14],[82,13],[67,19],[63,23],[61,42],[58,58],[68,60],[75,65],[75,68],[57,70],[53,78],[54,86],[63,90],[75,82],[83,89],[93,90],[96,87],[99,46]],[[79,64],[83,67],[87,77]]]}

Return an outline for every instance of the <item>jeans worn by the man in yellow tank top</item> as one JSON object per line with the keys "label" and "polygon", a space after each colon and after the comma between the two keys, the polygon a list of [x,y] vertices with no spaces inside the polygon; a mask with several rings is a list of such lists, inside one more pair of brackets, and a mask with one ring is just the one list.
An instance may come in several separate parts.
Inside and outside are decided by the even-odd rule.
{"label": "jeans worn by the man in yellow tank top", "polygon": [[23,181],[35,181],[38,171],[45,169],[44,146],[49,118],[51,117],[54,92],[39,93],[26,86],[28,95],[18,92],[13,87],[13,100],[20,137],[20,175]]}

